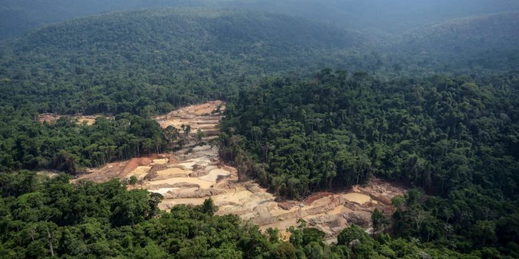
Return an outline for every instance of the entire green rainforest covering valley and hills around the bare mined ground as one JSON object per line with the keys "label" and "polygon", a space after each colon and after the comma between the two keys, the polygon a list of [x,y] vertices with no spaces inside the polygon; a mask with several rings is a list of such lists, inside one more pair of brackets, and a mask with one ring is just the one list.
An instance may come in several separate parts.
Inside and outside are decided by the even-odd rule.
{"label": "entire green rainforest covering valley and hills around the bare mined ground", "polygon": [[[52,1],[37,1],[37,14],[26,13],[29,1],[6,2],[0,19],[39,19],[28,27],[56,11]],[[148,7],[101,2],[73,1],[84,10],[53,21]],[[509,72],[519,68],[516,3],[486,3],[499,12],[489,14],[464,1],[450,11],[474,17],[431,14],[388,35],[400,5],[366,19],[374,10],[363,5],[376,1],[325,9],[317,1],[219,2],[277,14],[114,12],[0,42],[1,258],[519,257],[519,74]],[[447,1],[416,2],[429,10]],[[327,15],[288,16],[309,10]],[[345,26],[355,17],[364,20]],[[274,229],[214,215],[211,200],[158,211],[160,195],[127,191],[124,180],[69,184],[67,175],[33,172],[75,175],[170,151],[152,117],[210,99],[227,102],[221,157],[280,198],[373,177],[415,189],[392,201],[391,218],[374,213],[381,231],[352,226],[326,244],[304,222],[285,242]],[[41,113],[100,117],[92,126],[73,116],[40,123]]]}

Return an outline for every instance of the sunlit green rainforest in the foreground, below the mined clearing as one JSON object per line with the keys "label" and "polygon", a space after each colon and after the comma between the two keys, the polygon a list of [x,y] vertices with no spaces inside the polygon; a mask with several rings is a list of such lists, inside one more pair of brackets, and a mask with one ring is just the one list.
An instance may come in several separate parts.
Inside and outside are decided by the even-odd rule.
{"label": "sunlit green rainforest in the foreground, below the mined clearing", "polygon": [[[214,215],[212,200],[158,211],[160,194],[127,191],[112,180],[70,184],[66,175],[45,178],[21,171],[0,174],[1,258],[482,258],[435,249],[419,240],[373,238],[352,225],[336,244],[324,233],[291,227],[291,238],[266,233],[237,215]],[[405,205],[401,205],[405,206]],[[491,258],[491,257],[487,257]]]}

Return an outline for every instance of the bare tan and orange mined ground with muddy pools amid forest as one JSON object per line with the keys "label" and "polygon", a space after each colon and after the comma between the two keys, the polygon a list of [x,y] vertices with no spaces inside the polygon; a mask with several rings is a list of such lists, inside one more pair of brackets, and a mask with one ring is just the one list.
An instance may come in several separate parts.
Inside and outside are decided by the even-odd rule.
{"label": "bare tan and orange mined ground with muddy pools amid forest", "polygon": [[[216,101],[189,106],[157,119],[163,127],[193,122],[193,128],[210,125],[213,129],[217,128],[220,115],[205,115],[218,106],[222,108],[224,104]],[[80,179],[104,182],[136,175],[140,181],[128,188],[161,193],[164,196],[159,205],[161,209],[167,210],[176,204],[199,205],[211,197],[219,206],[217,215],[239,215],[243,220],[259,225],[262,230],[278,228],[284,238],[289,237],[284,230],[295,226],[299,219],[324,231],[327,238],[335,238],[352,223],[368,229],[372,211],[380,209],[390,215],[393,211],[390,199],[404,191],[398,186],[374,179],[366,186],[354,186],[352,191],[320,192],[302,201],[278,202],[273,194],[255,182],[238,182],[236,169],[219,160],[217,147],[192,146],[195,144],[196,141],[192,140],[190,145],[174,154],[107,164],[101,169],[93,169],[89,175],[82,175]]]}

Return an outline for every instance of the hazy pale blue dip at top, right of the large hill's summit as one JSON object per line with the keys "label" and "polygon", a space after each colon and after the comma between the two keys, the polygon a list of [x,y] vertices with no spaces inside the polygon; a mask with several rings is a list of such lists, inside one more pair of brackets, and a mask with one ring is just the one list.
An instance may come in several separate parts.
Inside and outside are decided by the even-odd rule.
{"label": "hazy pale blue dip at top, right of the large hill's summit", "polygon": [[513,0],[235,0],[226,5],[307,17],[382,35],[399,35],[447,19],[519,10],[519,3]]}

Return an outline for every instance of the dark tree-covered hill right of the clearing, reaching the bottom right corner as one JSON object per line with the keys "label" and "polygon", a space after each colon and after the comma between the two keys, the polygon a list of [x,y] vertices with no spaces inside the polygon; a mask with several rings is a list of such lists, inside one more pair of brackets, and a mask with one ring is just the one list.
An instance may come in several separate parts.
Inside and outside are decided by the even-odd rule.
{"label": "dark tree-covered hill right of the clearing, reaching the bottom right corner", "polygon": [[518,100],[517,73],[477,83],[332,70],[266,79],[228,103],[221,156],[295,198],[373,176],[407,182],[430,196],[409,193],[413,205],[394,214],[397,236],[510,255],[519,241]]}

